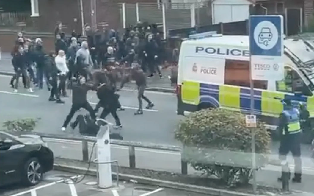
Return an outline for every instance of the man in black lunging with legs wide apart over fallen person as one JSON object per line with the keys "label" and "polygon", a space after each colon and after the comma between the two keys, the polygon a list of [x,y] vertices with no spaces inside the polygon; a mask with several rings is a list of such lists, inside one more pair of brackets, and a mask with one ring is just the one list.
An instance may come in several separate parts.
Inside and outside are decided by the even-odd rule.
{"label": "man in black lunging with legs wide apart over fallen person", "polygon": [[[76,79],[73,78],[73,80],[75,81]],[[96,87],[94,84],[87,83],[85,77],[81,76],[78,78],[78,82],[72,83],[72,107],[62,125],[61,128],[62,131],[65,131],[70,120],[73,118],[75,112],[77,112],[81,108],[86,109],[89,112],[92,119],[96,119],[95,111],[87,101],[87,92],[89,90],[96,90]]]}

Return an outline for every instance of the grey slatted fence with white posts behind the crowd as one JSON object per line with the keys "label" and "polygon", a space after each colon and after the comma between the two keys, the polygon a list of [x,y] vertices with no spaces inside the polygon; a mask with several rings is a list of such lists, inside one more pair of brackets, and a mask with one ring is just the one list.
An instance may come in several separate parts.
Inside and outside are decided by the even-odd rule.
{"label": "grey slatted fence with white posts behind the crowd", "polygon": [[[108,3],[97,1],[95,18],[97,23],[107,22],[122,29],[137,22],[159,23],[162,30],[189,28],[211,24],[208,3]],[[118,14],[116,14],[116,13]],[[95,22],[92,22],[92,24]],[[117,23],[112,25],[113,23]]]}

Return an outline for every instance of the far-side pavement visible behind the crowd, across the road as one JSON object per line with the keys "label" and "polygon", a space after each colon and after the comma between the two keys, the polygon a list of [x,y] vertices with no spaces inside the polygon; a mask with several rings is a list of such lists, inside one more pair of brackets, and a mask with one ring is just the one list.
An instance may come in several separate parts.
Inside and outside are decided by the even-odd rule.
{"label": "far-side pavement visible behind the crowd, across the road", "polygon": [[[9,53],[1,53],[0,59],[0,75],[12,75],[14,74],[13,66],[11,63],[11,55]],[[159,78],[159,76],[155,76],[147,79],[147,89],[152,91],[161,91],[161,92],[174,92],[174,87],[171,87],[168,76],[171,75],[171,71],[169,69],[161,70],[163,78]],[[127,83],[126,87],[136,89],[136,85],[133,83]]]}

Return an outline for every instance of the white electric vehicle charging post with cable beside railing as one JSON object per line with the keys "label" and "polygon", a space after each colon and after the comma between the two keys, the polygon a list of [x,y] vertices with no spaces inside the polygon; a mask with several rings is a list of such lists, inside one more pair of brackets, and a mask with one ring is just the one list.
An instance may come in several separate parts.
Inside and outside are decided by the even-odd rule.
{"label": "white electric vehicle charging post with cable beside railing", "polygon": [[[100,130],[97,133],[97,159],[94,162],[97,164],[97,178],[99,188],[112,188],[112,171],[111,163],[117,163],[117,161],[111,160],[110,152],[110,126],[113,124],[104,120],[96,119],[96,125],[100,126]],[[118,168],[118,167],[117,167]],[[117,176],[119,173],[117,172]],[[117,185],[119,182],[117,177]]]}

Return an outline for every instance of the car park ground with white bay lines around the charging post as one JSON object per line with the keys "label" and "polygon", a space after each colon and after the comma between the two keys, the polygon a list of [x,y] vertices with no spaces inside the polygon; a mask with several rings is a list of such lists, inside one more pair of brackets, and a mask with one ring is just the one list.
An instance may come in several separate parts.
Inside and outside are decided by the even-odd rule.
{"label": "car park ground with white bay lines around the charging post", "polygon": [[67,180],[75,176],[76,174],[73,173],[51,171],[45,175],[43,182],[35,187],[23,188],[14,185],[1,188],[0,196],[205,196],[198,193],[143,186],[130,182],[119,182],[118,186],[116,186],[116,182],[113,182],[113,188],[100,189],[95,185],[96,178],[92,176],[85,176],[81,182],[79,181],[82,177],[79,177],[74,184]]}

